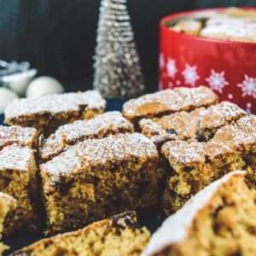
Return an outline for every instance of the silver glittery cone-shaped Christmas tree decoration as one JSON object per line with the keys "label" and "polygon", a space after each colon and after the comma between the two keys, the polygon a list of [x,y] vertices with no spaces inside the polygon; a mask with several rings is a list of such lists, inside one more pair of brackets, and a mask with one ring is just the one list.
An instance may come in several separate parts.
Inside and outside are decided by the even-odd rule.
{"label": "silver glittery cone-shaped Christmas tree decoration", "polygon": [[108,98],[143,94],[144,79],[127,0],[102,0],[96,38],[93,86]]}

